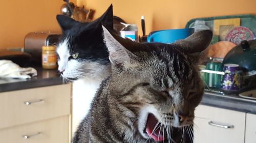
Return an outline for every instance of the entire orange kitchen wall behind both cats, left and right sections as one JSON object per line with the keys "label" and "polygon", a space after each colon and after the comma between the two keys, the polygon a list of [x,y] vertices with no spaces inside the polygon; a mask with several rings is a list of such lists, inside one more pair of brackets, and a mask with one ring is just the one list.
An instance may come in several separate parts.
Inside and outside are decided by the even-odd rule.
{"label": "entire orange kitchen wall behind both cats, left and right sections", "polygon": [[[56,14],[59,14],[62,0],[0,0],[0,49],[23,47],[27,33],[35,31],[60,32]],[[110,4],[114,14],[127,23],[140,26],[145,16],[146,34],[155,30],[182,28],[196,17],[234,14],[256,14],[255,0],[72,0],[78,6],[95,9],[99,17]],[[141,35],[141,29],[139,29]]]}

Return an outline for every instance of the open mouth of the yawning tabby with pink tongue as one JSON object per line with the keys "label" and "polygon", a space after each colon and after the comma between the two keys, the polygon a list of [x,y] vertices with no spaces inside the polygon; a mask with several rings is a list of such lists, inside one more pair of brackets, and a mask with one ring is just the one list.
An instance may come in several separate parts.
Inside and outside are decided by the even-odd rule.
{"label": "open mouth of the yawning tabby with pink tongue", "polygon": [[148,114],[144,132],[155,141],[163,141],[167,137],[163,131],[163,126],[156,117],[152,113]]}

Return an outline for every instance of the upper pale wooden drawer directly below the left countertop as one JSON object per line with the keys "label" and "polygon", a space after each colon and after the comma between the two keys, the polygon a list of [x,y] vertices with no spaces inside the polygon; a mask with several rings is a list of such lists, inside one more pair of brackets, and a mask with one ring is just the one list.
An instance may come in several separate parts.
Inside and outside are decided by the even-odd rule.
{"label": "upper pale wooden drawer directly below the left countertop", "polygon": [[0,129],[69,115],[70,100],[70,84],[0,93]]}

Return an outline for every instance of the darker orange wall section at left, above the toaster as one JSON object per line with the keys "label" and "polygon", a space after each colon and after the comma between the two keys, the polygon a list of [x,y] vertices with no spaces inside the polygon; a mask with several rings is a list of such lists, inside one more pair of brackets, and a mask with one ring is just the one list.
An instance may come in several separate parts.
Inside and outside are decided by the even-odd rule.
{"label": "darker orange wall section at left, above the toaster", "polygon": [[[0,49],[23,47],[29,32],[60,32],[56,14],[62,0],[0,0]],[[76,2],[72,0],[71,2]]]}

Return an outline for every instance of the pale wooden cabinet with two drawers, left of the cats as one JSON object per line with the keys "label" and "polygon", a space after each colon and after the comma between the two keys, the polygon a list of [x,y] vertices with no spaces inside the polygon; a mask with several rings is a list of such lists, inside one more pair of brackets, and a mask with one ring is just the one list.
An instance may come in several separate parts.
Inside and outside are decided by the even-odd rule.
{"label": "pale wooden cabinet with two drawers, left of the cats", "polygon": [[0,93],[0,106],[1,142],[70,142],[70,84]]}

